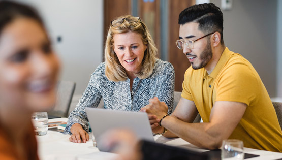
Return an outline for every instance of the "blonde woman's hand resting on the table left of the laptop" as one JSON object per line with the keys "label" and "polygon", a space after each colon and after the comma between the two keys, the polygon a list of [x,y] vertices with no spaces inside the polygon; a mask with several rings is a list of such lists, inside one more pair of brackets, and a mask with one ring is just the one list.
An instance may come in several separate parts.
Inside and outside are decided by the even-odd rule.
{"label": "blonde woman's hand resting on the table left of the laptop", "polygon": [[89,141],[89,135],[88,133],[83,130],[82,126],[78,123],[74,123],[71,127],[71,137],[69,138],[71,142],[75,143],[86,143],[86,141]]}

